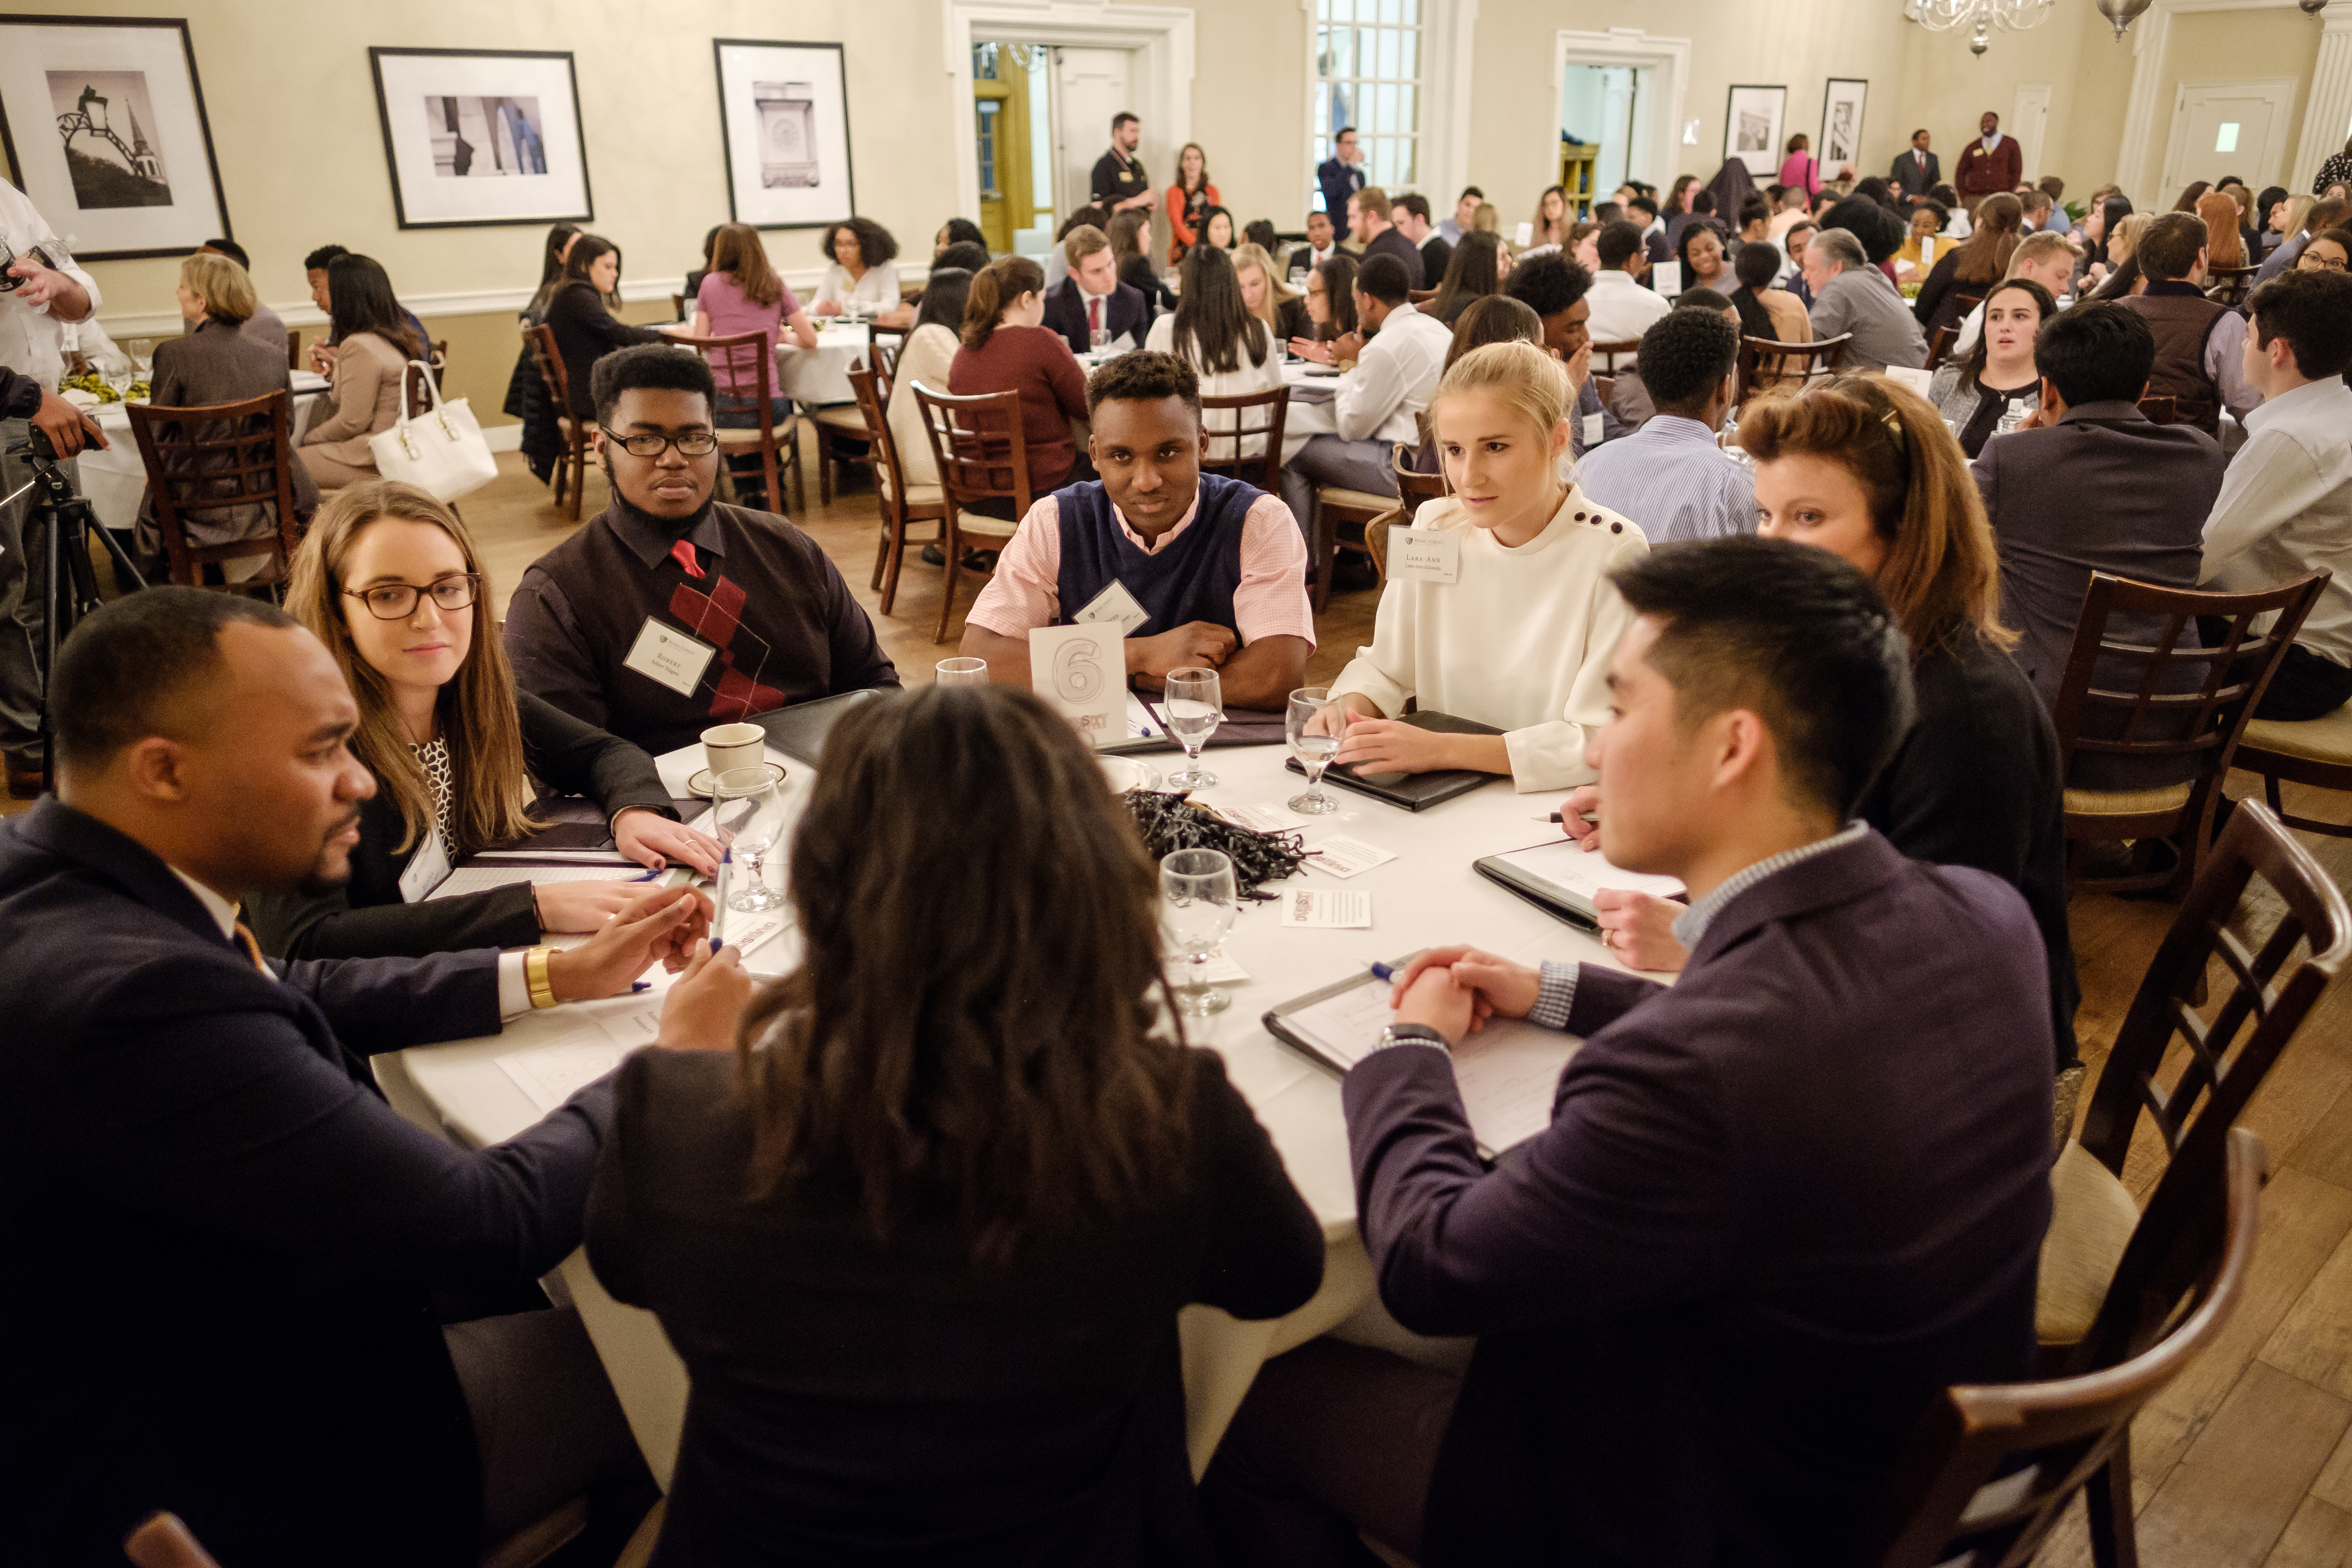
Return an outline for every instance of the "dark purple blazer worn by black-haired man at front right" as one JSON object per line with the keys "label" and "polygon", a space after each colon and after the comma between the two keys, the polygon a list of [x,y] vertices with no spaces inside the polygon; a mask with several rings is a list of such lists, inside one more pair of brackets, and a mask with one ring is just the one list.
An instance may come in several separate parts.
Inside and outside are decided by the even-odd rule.
{"label": "dark purple blazer worn by black-haired man at front right", "polygon": [[1552,1126],[1494,1171],[1444,1056],[1357,1065],[1381,1300],[1479,1335],[1421,1563],[1844,1561],[1936,1392],[2030,1371],[2044,992],[2013,889],[1872,832],[1672,987],[1581,966]]}

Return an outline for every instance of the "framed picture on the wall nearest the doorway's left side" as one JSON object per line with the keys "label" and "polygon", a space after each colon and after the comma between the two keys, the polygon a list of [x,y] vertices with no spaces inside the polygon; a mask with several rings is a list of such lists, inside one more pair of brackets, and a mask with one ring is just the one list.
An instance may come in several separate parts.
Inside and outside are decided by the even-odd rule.
{"label": "framed picture on the wall nearest the doorway's left side", "polygon": [[715,38],[727,212],[753,228],[826,228],[856,212],[840,45]]}

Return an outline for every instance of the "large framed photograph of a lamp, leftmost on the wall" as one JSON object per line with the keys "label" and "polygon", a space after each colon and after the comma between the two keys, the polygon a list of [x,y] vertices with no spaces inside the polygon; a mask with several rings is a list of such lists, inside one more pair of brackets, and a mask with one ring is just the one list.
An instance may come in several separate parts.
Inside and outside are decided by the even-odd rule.
{"label": "large framed photograph of a lamp, leftmost on the wall", "polygon": [[78,261],[233,237],[186,21],[0,16],[0,148]]}

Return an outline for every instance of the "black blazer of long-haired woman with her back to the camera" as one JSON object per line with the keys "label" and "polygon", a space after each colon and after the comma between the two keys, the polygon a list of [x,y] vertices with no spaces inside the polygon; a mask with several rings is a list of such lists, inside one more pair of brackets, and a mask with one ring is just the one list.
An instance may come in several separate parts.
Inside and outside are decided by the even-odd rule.
{"label": "black blazer of long-haired woman with her back to the camera", "polygon": [[1214,1563],[1176,1309],[1291,1312],[1324,1239],[1223,1063],[1190,1058],[1190,1150],[1141,1211],[988,1267],[953,1199],[884,1244],[847,1171],[748,1197],[736,1063],[633,1056],[588,1260],[694,1375],[661,1561]]}

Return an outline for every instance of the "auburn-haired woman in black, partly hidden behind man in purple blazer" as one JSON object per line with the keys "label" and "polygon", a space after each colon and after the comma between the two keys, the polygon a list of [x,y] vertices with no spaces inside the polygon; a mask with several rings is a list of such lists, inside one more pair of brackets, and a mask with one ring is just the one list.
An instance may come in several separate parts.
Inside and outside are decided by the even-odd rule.
{"label": "auburn-haired woman in black, partly hidden behind man in purple blazer", "polygon": [[[1755,458],[1757,534],[1860,567],[1910,639],[1919,715],[1858,816],[1912,860],[1973,865],[2020,893],[2051,964],[2058,1065],[2074,1060],[2074,950],[2065,922],[2058,736],[2009,658],[2002,562],[1959,442],[1936,407],[1884,376],[1823,376],[1755,397],[1738,442]],[[1562,806],[1599,846],[1578,790]],[[1679,905],[1602,896],[1602,926],[1635,969],[1682,969]]]}

